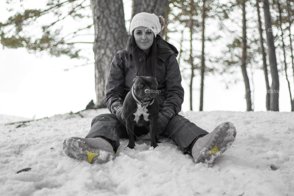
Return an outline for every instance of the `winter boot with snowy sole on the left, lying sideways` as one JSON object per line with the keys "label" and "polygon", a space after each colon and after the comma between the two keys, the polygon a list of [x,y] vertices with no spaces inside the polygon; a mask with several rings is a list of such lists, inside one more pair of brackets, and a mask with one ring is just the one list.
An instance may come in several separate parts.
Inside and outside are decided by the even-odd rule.
{"label": "winter boot with snowy sole on the left, lying sideways", "polygon": [[70,158],[89,163],[103,164],[114,158],[113,147],[103,138],[67,138],[62,149]]}

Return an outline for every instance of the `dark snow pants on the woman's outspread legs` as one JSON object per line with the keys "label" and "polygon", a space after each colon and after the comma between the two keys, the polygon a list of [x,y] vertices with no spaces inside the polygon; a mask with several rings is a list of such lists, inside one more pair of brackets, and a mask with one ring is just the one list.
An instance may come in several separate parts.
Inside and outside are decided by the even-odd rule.
{"label": "dark snow pants on the woman's outspread legs", "polygon": [[[136,136],[147,134],[145,127],[135,127]],[[196,126],[182,115],[175,115],[169,122],[166,130],[157,135],[172,139],[176,145],[186,154],[189,153],[189,145],[200,135],[208,134],[207,131]],[[111,142],[116,152],[120,138],[129,138],[125,123],[120,122],[113,114],[101,114],[92,120],[91,129],[86,138],[101,137]]]}

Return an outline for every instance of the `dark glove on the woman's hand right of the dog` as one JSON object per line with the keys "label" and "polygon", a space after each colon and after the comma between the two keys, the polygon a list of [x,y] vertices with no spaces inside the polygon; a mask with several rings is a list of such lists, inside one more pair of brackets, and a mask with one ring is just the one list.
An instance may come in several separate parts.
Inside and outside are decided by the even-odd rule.
{"label": "dark glove on the woman's hand right of the dog", "polygon": [[157,118],[157,134],[161,134],[164,132],[174,115],[174,112],[167,107],[160,109]]}

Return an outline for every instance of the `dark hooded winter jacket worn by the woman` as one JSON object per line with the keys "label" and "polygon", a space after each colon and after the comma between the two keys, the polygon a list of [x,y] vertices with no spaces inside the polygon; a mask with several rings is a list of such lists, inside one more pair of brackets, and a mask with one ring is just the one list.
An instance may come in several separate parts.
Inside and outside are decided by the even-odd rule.
{"label": "dark hooded winter jacket worn by the woman", "polygon": [[[170,119],[181,111],[184,100],[182,77],[177,62],[177,49],[156,36],[157,45],[157,82],[160,93],[156,95],[161,109],[168,111]],[[115,54],[109,70],[106,85],[106,102],[109,111],[115,114],[114,106],[122,104],[136,77],[135,68],[129,62],[128,51],[120,50]]]}

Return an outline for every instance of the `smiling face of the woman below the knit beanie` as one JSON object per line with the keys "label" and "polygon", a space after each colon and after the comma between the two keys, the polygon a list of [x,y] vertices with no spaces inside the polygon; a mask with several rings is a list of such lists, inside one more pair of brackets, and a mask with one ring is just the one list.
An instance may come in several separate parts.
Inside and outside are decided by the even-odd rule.
{"label": "smiling face of the woman below the knit beanie", "polygon": [[145,54],[148,54],[154,39],[154,33],[151,29],[142,26],[135,28],[134,38],[137,46],[144,51]]}

